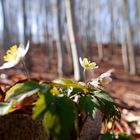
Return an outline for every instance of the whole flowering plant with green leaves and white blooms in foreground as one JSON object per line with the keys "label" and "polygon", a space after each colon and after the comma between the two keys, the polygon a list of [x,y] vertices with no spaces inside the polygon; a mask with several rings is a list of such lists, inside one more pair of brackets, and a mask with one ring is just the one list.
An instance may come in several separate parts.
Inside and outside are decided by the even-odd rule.
{"label": "whole flowering plant with green leaves and white blooms in foreground", "polygon": [[[10,48],[4,57],[6,63],[0,69],[11,68],[20,61],[25,66],[24,56],[28,49],[29,42],[26,47],[20,45]],[[87,58],[80,58],[80,63],[84,72],[98,67]],[[108,71],[87,82],[64,78],[40,82],[27,78],[5,91],[4,102],[0,103],[0,115],[32,106],[32,118],[42,119],[49,139],[68,140],[72,139],[73,133],[78,140],[86,118],[94,120],[98,110],[102,112],[103,121],[106,123],[120,117],[119,108],[103,89],[103,85],[111,81],[110,75],[111,71]]]}

